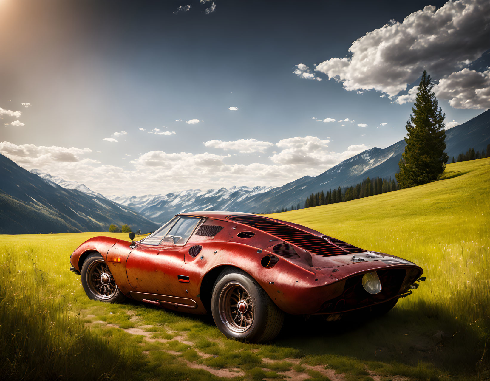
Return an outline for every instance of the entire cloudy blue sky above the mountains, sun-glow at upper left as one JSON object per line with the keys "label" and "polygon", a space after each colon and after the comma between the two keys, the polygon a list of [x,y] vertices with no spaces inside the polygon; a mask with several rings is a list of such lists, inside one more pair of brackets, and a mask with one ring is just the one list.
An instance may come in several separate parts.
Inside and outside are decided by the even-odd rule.
{"label": "entire cloudy blue sky above the mountains, sun-glow at upper left", "polygon": [[0,0],[0,152],[103,194],[318,175],[403,138],[423,69],[448,127],[488,109],[489,8]]}

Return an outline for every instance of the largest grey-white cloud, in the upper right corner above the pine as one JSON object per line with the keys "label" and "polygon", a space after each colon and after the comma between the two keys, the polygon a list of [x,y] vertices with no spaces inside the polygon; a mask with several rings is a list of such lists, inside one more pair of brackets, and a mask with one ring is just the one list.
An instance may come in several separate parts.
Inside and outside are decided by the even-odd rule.
{"label": "largest grey-white cloud, in the upper right corner above the pine", "polygon": [[352,43],[349,56],[330,58],[315,70],[343,82],[348,91],[374,89],[391,96],[427,70],[441,78],[489,48],[490,1],[427,5],[402,23],[391,21]]}

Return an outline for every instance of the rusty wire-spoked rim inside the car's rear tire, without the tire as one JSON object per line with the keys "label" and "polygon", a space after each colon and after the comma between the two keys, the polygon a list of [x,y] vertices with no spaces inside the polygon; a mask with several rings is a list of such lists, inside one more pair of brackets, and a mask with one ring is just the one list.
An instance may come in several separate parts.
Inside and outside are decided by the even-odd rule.
{"label": "rusty wire-spoked rim inside the car's rear tire, without the tire", "polygon": [[253,322],[253,303],[248,291],[237,282],[230,282],[220,294],[221,321],[236,333],[247,331]]}

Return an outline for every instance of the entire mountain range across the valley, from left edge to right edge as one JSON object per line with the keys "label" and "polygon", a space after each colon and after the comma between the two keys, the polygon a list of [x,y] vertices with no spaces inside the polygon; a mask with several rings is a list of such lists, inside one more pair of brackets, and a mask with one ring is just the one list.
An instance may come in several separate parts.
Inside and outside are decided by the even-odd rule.
{"label": "entire mountain range across the valley, from left edge to right edge", "polygon": [[[480,151],[489,143],[490,110],[446,131],[449,162],[469,148]],[[0,155],[0,233],[106,231],[110,223],[148,232],[181,212],[267,213],[303,206],[312,192],[355,185],[367,177],[394,178],[405,145],[401,140],[387,148],[368,149],[318,176],[304,176],[282,187],[191,189],[131,197],[104,197],[77,182],[36,169],[28,172]]]}

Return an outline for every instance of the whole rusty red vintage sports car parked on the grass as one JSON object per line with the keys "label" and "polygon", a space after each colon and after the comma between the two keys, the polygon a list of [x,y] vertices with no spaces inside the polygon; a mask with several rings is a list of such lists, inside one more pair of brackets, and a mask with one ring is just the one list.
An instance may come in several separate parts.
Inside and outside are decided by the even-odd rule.
{"label": "whole rusty red vintage sports car parked on the grass", "polygon": [[274,338],[284,313],[387,312],[425,279],[404,259],[234,212],[178,214],[138,242],[91,238],[70,262],[91,299],[212,312],[226,336],[253,342]]}

